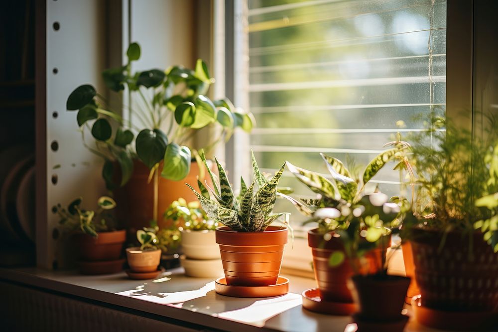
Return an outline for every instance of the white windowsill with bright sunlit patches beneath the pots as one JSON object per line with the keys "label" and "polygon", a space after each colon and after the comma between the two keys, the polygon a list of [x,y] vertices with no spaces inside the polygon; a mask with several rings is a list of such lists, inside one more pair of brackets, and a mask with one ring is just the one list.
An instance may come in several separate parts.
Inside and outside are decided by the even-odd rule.
{"label": "white windowsill with bright sunlit patches beneath the pots", "polygon": [[[169,273],[158,276],[158,279],[171,278],[167,281],[143,282],[128,279],[124,272],[84,276],[74,271],[24,268],[0,269],[0,278],[131,309],[136,315],[154,314],[225,331],[343,332],[351,322],[350,317],[326,316],[302,309],[300,294],[316,287],[309,278],[292,276],[290,293],[282,297],[243,299],[219,295],[214,291],[212,279],[185,277],[181,268]],[[405,331],[426,330],[411,319]]]}

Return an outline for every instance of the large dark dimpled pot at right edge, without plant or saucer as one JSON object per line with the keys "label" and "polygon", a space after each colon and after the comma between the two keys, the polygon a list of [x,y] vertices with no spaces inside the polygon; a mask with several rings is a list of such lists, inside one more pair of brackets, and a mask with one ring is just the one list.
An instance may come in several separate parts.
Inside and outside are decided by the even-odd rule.
{"label": "large dark dimpled pot at right edge, without plant or saucer", "polygon": [[496,311],[498,303],[498,254],[483,241],[481,232],[472,235],[451,231],[446,235],[431,229],[411,230],[415,278],[421,305],[443,311]]}

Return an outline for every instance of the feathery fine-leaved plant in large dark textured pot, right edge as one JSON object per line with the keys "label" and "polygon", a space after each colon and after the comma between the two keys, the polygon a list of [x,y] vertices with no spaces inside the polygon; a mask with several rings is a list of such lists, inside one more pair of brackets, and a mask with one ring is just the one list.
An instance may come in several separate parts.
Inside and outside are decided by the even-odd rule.
{"label": "feathery fine-leaved plant in large dark textured pot, right edge", "polygon": [[497,125],[472,139],[442,117],[430,124],[412,138],[417,204],[401,234],[410,239],[421,294],[415,316],[441,329],[489,328],[498,317]]}

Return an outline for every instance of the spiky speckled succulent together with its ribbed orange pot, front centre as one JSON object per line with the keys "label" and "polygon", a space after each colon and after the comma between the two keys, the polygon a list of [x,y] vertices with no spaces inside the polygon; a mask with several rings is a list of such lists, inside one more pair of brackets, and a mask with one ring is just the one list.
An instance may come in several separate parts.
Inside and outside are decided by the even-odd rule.
{"label": "spiky speckled succulent together with its ribbed orange pot, front centre", "polygon": [[[202,159],[206,162],[204,155]],[[255,180],[247,187],[241,179],[241,192],[236,196],[224,168],[216,158],[215,162],[218,166],[219,185],[217,176],[208,170],[214,189],[210,188],[208,191],[199,182],[201,191],[198,193],[189,184],[187,186],[194,191],[207,216],[225,225],[216,228],[216,243],[220,245],[226,285],[262,287],[269,291],[276,290],[276,295],[286,293],[288,281],[287,287],[267,287],[279,285],[277,281],[283,248],[287,243],[288,228],[270,225],[279,217],[288,215],[286,213],[272,214],[278,181],[285,165],[268,180],[259,171],[254,155],[252,155]],[[279,293],[279,288],[284,288],[284,292]],[[253,291],[255,293],[244,294],[243,292],[238,296],[268,296],[258,293],[259,290]]]}

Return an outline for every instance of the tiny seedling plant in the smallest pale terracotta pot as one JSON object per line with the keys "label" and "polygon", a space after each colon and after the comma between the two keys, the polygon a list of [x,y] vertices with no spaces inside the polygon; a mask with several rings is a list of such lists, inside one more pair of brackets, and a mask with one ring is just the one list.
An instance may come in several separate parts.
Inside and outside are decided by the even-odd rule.
{"label": "tiny seedling plant in the smallest pale terracotta pot", "polygon": [[161,249],[156,235],[157,226],[144,227],[136,231],[139,247],[126,248],[126,258],[130,271],[126,271],[132,279],[150,279],[157,276],[157,266],[161,261]]}

